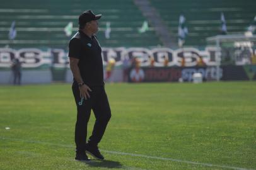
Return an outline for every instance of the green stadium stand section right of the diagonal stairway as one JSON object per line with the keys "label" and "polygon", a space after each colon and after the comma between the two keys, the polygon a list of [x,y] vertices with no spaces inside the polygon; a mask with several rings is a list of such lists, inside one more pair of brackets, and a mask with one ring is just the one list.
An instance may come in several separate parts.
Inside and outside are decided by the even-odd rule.
{"label": "green stadium stand section right of the diagonal stairway", "polygon": [[202,47],[206,37],[220,34],[221,12],[228,34],[244,33],[255,16],[255,0],[149,0],[161,14],[168,28],[177,37],[178,18],[186,18],[189,35],[185,46]]}

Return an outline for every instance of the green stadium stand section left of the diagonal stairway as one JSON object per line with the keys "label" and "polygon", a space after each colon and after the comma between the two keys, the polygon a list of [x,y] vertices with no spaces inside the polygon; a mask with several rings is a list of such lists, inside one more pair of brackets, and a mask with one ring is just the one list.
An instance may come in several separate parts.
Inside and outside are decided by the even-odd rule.
{"label": "green stadium stand section left of the diagonal stairway", "polygon": [[[102,13],[98,38],[102,47],[151,47],[161,45],[153,28],[145,33],[138,29],[146,20],[132,0],[10,0],[0,7],[0,47],[67,48],[70,37],[64,27],[72,21],[73,34],[78,28],[78,15],[86,9]],[[17,36],[8,39],[12,21],[16,21]],[[111,23],[110,38],[105,38],[106,22]],[[150,27],[150,26],[149,26]]]}

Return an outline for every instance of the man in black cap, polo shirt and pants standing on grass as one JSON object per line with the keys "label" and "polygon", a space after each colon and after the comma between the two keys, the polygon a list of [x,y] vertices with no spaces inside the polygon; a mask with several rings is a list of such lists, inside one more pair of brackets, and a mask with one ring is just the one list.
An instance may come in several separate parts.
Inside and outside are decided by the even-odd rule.
{"label": "man in black cap, polo shirt and pants standing on grass", "polygon": [[[76,157],[78,161],[90,161],[86,153],[103,160],[98,143],[103,137],[111,117],[103,81],[102,48],[95,33],[102,14],[84,11],[79,16],[79,31],[69,42],[69,61],[74,80],[72,90],[77,106],[75,130]],[[86,143],[87,125],[91,109],[95,114],[93,133]]]}

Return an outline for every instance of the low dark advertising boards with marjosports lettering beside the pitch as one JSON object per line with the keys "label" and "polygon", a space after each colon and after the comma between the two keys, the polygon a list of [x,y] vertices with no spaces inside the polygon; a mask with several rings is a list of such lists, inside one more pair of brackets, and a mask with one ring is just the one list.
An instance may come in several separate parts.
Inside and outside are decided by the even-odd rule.
{"label": "low dark advertising boards with marjosports lettering beside the pitch", "polygon": [[256,65],[224,65],[217,67],[132,67],[129,82],[190,82],[193,74],[201,73],[203,81],[256,80]]}

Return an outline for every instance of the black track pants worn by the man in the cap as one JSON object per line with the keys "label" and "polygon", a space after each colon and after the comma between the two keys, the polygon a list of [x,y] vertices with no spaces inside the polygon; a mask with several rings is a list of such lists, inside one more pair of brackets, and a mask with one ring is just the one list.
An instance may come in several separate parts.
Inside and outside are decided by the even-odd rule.
{"label": "black track pants worn by the man in the cap", "polygon": [[75,130],[76,150],[81,151],[85,150],[87,125],[90,119],[91,109],[93,110],[96,120],[93,127],[93,133],[88,140],[88,144],[90,145],[98,145],[111,117],[110,106],[104,86],[92,86],[90,89],[92,90],[89,92],[90,98],[81,101],[78,84],[73,82],[72,85],[74,99],[78,110]]}

